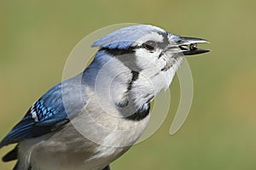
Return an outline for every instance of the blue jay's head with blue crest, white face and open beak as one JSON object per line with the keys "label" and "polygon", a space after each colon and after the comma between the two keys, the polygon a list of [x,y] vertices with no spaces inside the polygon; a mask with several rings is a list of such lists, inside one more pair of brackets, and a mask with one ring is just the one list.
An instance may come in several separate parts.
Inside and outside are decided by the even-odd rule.
{"label": "blue jay's head with blue crest, white face and open beak", "polygon": [[[94,42],[92,47],[100,47],[115,55],[133,73],[137,73],[132,86],[143,87],[140,89],[143,95],[150,91],[145,88],[145,82],[148,81],[154,86],[152,94],[155,96],[161,89],[169,87],[185,55],[209,52],[197,48],[197,43],[204,42],[207,41],[180,37],[156,26],[138,25],[113,31]],[[135,93],[140,90],[137,89]]]}

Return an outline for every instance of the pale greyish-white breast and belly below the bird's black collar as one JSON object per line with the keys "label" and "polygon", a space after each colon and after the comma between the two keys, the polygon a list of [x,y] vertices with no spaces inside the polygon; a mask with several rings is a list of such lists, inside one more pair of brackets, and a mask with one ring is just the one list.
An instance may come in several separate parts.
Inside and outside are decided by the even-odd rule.
{"label": "pale greyish-white breast and belly below the bird's black collar", "polygon": [[[99,118],[101,115],[95,115],[94,121],[102,120],[103,126],[112,122],[106,128],[108,130],[92,126],[91,120],[85,118],[86,114],[81,113],[72,121],[74,126],[68,123],[58,133],[20,142],[20,169],[31,165],[32,170],[102,170],[137,141],[149,120],[149,115],[140,122],[113,117],[112,121],[107,121],[108,116]],[[115,130],[109,129],[113,127]],[[96,138],[90,139],[91,136]]]}

